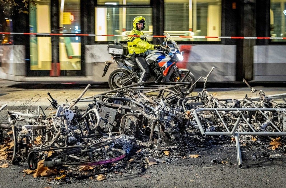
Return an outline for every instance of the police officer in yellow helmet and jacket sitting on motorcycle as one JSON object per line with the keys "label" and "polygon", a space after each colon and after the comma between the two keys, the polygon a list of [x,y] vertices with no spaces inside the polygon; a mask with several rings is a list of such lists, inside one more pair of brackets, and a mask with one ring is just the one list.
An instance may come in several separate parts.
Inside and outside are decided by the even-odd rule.
{"label": "police officer in yellow helmet and jacket sitting on motorcycle", "polygon": [[[142,31],[145,28],[145,22],[146,21],[144,17],[136,16],[133,20],[133,29],[129,33],[129,35],[144,35]],[[129,54],[132,54],[135,57],[136,63],[143,71],[138,82],[147,81],[150,76],[150,69],[148,67],[147,61],[145,60],[146,55],[144,52],[146,52],[147,50],[159,49],[160,45],[150,44],[146,37],[134,36],[128,37],[127,45]]]}

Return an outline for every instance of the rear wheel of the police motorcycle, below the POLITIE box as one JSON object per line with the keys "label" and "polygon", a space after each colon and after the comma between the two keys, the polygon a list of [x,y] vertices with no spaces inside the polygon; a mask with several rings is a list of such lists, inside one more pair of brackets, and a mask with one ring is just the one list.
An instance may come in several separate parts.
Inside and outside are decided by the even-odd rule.
{"label": "rear wheel of the police motorcycle, below the POLITIE box", "polygon": [[128,78],[128,75],[122,73],[120,68],[115,69],[108,78],[108,85],[110,89],[114,90],[122,87],[122,84],[124,83],[123,80],[126,80],[126,78]]}

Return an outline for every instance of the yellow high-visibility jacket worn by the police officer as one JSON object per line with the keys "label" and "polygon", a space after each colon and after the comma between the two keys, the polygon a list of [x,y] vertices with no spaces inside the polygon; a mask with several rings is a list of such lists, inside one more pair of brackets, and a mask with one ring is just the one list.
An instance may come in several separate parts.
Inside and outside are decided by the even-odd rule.
{"label": "yellow high-visibility jacket worn by the police officer", "polygon": [[[144,35],[142,31],[132,29],[128,35]],[[127,38],[128,52],[133,54],[144,53],[148,50],[154,50],[154,45],[148,43],[146,37],[128,37]]]}

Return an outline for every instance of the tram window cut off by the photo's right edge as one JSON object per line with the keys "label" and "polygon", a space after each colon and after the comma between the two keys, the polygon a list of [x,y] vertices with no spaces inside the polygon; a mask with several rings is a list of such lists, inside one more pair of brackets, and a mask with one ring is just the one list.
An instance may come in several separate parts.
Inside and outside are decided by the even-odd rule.
{"label": "tram window cut off by the photo's right edge", "polygon": [[[286,37],[286,1],[270,0],[270,36]],[[286,12],[286,11],[285,11]],[[272,39],[272,41],[285,41],[283,39]]]}

